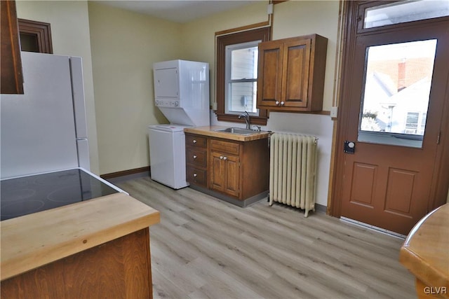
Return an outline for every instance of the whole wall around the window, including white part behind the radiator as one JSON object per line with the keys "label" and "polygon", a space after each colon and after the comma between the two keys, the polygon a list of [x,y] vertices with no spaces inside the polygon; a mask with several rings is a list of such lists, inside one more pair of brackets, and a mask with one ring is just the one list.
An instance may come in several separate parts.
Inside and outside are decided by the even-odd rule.
{"label": "whole wall around the window, including white part behind the radiator", "polygon": [[[190,22],[182,27],[185,43],[184,57],[210,63],[212,83],[211,102],[215,101],[215,32],[251,25],[268,20],[268,1],[228,11]],[[284,39],[306,34],[320,34],[328,39],[326,77],[324,83],[323,110],[333,106],[335,51],[337,44],[338,1],[287,1],[274,6],[273,39]],[[211,113],[213,125],[234,125],[218,122]],[[333,137],[333,121],[330,116],[308,113],[270,113],[267,126],[262,130],[273,132],[295,132],[318,137],[319,163],[316,202],[326,206],[330,173],[330,155]]]}

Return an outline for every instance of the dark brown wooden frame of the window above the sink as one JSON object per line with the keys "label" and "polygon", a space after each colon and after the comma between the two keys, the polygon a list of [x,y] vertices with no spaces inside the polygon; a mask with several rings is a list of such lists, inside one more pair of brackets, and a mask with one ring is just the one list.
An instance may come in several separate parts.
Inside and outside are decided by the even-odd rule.
{"label": "dark brown wooden frame of the window above the sink", "polygon": [[[269,41],[270,27],[261,27],[250,29],[232,34],[224,34],[216,36],[217,43],[217,64],[215,67],[216,76],[216,102],[217,102],[217,120],[228,121],[234,123],[243,123],[243,119],[239,119],[239,114],[226,113],[225,110],[225,88],[226,88],[226,46],[250,41]],[[251,117],[251,124],[267,125],[267,110],[259,109],[259,116]]]}

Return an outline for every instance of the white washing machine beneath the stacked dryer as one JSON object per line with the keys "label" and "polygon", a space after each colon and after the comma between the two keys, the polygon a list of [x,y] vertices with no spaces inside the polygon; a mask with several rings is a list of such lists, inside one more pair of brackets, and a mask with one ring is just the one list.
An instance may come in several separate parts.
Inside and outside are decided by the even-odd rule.
{"label": "white washing machine beneath the stacked dryer", "polygon": [[189,186],[185,180],[185,125],[150,125],[149,165],[153,181],[174,189]]}

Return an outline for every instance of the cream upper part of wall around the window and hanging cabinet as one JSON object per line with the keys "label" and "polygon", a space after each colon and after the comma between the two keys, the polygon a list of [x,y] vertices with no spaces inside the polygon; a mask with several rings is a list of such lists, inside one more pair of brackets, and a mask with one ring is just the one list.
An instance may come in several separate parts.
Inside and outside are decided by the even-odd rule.
{"label": "cream upper part of wall around the window and hanging cabinet", "polygon": [[[269,1],[257,1],[233,11],[211,15],[182,26],[183,57],[209,62],[215,78],[215,32],[265,22]],[[338,1],[287,1],[274,6],[273,39],[320,34],[328,38],[323,110],[333,102],[335,50],[337,44]],[[210,85],[215,101],[215,82]]]}

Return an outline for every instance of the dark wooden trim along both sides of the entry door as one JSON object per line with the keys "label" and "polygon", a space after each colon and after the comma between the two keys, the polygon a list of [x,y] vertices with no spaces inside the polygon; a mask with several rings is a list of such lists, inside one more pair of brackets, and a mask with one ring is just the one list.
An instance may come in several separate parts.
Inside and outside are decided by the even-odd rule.
{"label": "dark wooden trim along both sides of the entry door", "polygon": [[[342,32],[340,43],[342,43],[342,51],[339,55],[341,64],[341,79],[336,86],[337,103],[339,106],[339,115],[335,120],[336,135],[334,143],[334,158],[331,164],[330,181],[332,181],[332,187],[330,188],[330,200],[328,202],[328,214],[340,218],[341,205],[342,205],[342,190],[343,190],[343,174],[344,174],[344,152],[343,142],[345,133],[347,132],[347,126],[349,123],[349,74],[352,72],[351,61],[354,61],[355,55],[355,41],[358,23],[358,6],[364,5],[371,1],[344,1],[343,6],[343,18],[342,18]],[[428,22],[434,22],[434,20],[419,21],[422,24]],[[408,26],[407,24],[396,25],[396,27]],[[346,41],[346,43],[344,43]],[[446,83],[446,96],[449,95],[449,77]],[[436,207],[445,204],[449,190],[449,101],[446,100],[443,106],[443,121],[441,123],[441,137],[440,143],[436,151],[436,165],[434,169],[434,179],[431,186],[431,200],[429,200],[428,211],[436,209]],[[436,142],[436,141],[435,141]]]}

